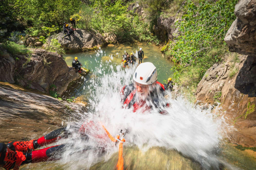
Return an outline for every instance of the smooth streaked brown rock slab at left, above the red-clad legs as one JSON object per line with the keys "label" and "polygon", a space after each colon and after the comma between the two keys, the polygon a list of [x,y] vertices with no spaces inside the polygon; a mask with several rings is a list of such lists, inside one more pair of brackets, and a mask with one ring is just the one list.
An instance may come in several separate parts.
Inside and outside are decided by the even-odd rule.
{"label": "smooth streaked brown rock slab at left, above the red-clad legs", "polygon": [[25,91],[20,86],[0,82],[1,142],[37,139],[63,126],[69,115],[86,110],[83,104]]}

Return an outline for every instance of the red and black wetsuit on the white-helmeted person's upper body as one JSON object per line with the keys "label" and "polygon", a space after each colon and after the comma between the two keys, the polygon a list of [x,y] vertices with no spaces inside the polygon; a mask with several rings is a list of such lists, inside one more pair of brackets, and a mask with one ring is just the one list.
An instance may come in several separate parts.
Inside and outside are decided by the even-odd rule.
{"label": "red and black wetsuit on the white-helmeted person's upper body", "polygon": [[[150,92],[150,98],[151,98],[151,102],[154,106],[146,106],[146,102],[145,101],[140,101],[138,102],[136,100],[136,89],[132,84],[126,85],[123,87],[122,91],[121,91],[121,98],[122,98],[122,103],[123,106],[126,108],[131,108],[133,107],[133,112],[136,112],[138,109],[145,107],[145,109],[151,109],[152,107],[158,108],[159,111],[161,105],[162,106],[169,106],[168,104],[162,104],[160,102],[160,98],[164,96],[164,85],[161,84],[160,82],[156,82],[156,88],[154,88],[153,91]],[[159,96],[158,93],[161,95]]]}

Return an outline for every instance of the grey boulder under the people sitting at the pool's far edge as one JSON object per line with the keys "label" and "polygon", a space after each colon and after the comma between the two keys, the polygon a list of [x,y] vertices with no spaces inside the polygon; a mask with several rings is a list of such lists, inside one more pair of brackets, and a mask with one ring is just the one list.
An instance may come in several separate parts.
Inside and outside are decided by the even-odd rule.
{"label": "grey boulder under the people sitting at the pool's far edge", "polygon": [[106,45],[106,41],[100,33],[95,34],[95,33],[87,32],[84,30],[76,30],[75,31],[76,37],[71,35],[71,36],[62,38],[63,36],[64,36],[63,32],[60,32],[55,37],[51,36],[47,39],[47,42],[43,46],[47,47],[48,42],[53,38],[57,39],[58,42],[61,44],[61,46],[65,50],[86,51],[86,50],[93,50],[100,46]]}

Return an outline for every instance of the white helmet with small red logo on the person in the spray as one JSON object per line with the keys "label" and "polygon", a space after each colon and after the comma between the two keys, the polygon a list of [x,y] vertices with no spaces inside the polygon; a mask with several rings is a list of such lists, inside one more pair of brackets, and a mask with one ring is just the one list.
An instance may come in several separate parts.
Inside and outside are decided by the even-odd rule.
{"label": "white helmet with small red logo on the person in the spray", "polygon": [[157,80],[156,67],[151,62],[141,63],[133,74],[133,80],[140,84],[152,84]]}

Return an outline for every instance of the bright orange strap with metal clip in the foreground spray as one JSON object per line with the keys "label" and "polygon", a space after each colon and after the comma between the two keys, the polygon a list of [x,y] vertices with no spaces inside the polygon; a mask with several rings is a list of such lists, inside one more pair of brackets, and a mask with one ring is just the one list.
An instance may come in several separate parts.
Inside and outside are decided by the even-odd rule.
{"label": "bright orange strap with metal clip in the foreground spray", "polygon": [[[119,141],[119,150],[118,150],[118,162],[116,165],[117,170],[123,170],[124,169],[124,159],[123,159],[123,142],[125,142],[125,139],[120,140],[120,136],[117,135],[116,139],[108,132],[108,130],[102,125],[106,133],[108,134],[108,137],[113,141]],[[117,140],[118,139],[118,140]]]}

